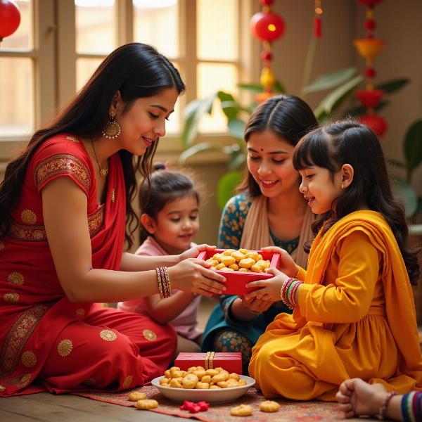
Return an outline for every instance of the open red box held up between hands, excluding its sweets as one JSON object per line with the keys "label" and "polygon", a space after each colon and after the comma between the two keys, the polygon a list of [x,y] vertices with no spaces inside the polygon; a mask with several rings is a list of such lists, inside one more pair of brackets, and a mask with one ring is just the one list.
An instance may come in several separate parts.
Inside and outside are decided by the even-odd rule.
{"label": "open red box held up between hands, excluding its sweets", "polygon": [[[222,253],[225,249],[215,249],[215,250],[204,250],[200,252],[198,258],[200,260],[207,260],[211,258],[216,253]],[[250,252],[254,252],[250,250]],[[273,252],[264,252],[262,250],[257,250],[260,255],[262,255],[263,260],[270,260],[269,266],[271,268],[279,269],[280,267],[280,254]],[[257,273],[253,271],[219,271],[215,270],[218,274],[226,277],[226,290],[224,290],[224,295],[244,295],[245,293],[256,290],[254,288],[246,288],[245,285],[251,281],[271,279],[274,277],[272,274],[265,272]]]}

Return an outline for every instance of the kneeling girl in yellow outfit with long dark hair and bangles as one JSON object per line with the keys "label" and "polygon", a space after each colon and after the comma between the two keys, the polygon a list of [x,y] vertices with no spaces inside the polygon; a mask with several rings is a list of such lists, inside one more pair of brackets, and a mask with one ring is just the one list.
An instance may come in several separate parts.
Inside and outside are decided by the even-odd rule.
{"label": "kneeling girl in yellow outfit with long dark hair and bangles", "polygon": [[293,155],[317,233],[308,269],[286,251],[273,279],[246,298],[280,300],[279,314],[252,349],[249,372],[266,397],[335,400],[348,378],[400,393],[422,388],[411,283],[418,250],[406,246],[402,207],[392,198],[380,143],[353,121],[307,134]]}

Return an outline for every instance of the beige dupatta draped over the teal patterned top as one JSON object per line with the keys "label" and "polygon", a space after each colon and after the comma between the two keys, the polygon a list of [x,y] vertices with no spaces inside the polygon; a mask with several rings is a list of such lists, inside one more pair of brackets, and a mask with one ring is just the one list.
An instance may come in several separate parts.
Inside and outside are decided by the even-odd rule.
{"label": "beige dupatta draped over the teal patterned top", "polygon": [[[269,234],[268,214],[267,214],[267,197],[257,196],[252,198],[252,204],[246,216],[245,226],[241,238],[241,248],[260,249],[263,246],[274,246],[274,241]],[[300,267],[307,267],[308,254],[303,250],[303,243],[309,241],[313,234],[311,229],[312,222],[315,221],[315,215],[310,207],[305,212],[302,229],[300,230],[298,248],[296,248],[291,257]]]}

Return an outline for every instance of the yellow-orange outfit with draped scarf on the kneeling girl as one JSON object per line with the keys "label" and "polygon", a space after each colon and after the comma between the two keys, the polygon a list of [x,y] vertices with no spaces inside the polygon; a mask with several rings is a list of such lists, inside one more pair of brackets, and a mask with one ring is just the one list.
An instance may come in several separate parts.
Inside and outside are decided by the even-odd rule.
{"label": "yellow-orange outfit with draped scarf on the kneeling girl", "polygon": [[252,349],[249,372],[266,397],[334,400],[354,377],[422,388],[409,277],[381,214],[352,212],[316,236],[298,278],[299,307],[276,316]]}

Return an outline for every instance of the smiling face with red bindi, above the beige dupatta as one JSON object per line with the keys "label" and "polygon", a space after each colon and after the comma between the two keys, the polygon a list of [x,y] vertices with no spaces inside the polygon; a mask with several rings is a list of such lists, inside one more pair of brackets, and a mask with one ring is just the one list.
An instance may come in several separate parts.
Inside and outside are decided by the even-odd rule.
{"label": "smiling face with red bindi, above the beige dupatta", "polygon": [[262,195],[276,198],[298,192],[298,172],[293,167],[294,146],[270,129],[253,132],[248,139],[248,170]]}

